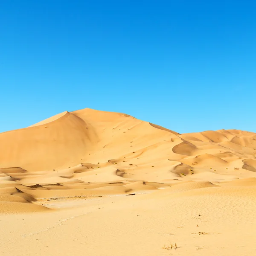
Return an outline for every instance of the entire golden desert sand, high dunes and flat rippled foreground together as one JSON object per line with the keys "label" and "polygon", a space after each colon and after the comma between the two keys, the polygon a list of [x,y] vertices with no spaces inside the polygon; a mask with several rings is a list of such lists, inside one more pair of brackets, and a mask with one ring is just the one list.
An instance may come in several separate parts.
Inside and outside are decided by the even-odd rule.
{"label": "entire golden desert sand, high dunes and flat rippled foreground together", "polygon": [[256,134],[88,108],[1,133],[0,227],[3,256],[255,256]]}

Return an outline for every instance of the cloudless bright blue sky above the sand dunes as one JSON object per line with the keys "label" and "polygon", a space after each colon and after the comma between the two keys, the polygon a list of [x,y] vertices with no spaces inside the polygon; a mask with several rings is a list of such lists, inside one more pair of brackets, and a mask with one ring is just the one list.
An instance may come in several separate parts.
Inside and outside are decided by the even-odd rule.
{"label": "cloudless bright blue sky above the sand dunes", "polygon": [[0,1],[0,132],[81,108],[256,132],[256,1]]}

